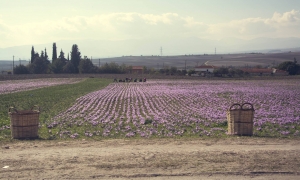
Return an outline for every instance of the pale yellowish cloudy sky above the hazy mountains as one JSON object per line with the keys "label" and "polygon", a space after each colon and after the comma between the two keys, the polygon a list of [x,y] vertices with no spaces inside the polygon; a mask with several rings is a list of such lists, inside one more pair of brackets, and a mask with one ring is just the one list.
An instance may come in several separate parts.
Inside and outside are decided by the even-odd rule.
{"label": "pale yellowish cloudy sky above the hazy mountains", "polygon": [[76,39],[300,37],[299,0],[0,0],[0,48]]}

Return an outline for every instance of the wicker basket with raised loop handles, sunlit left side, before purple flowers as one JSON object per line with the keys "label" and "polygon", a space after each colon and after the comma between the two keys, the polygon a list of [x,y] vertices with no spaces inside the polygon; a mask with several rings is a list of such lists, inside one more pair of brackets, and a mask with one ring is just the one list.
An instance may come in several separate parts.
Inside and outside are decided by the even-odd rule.
{"label": "wicker basket with raised loop handles, sunlit left side, before purple flowers", "polygon": [[[250,105],[250,108],[246,108]],[[237,109],[232,109],[238,106]],[[233,104],[227,111],[228,134],[231,135],[253,135],[254,108],[251,103]]]}

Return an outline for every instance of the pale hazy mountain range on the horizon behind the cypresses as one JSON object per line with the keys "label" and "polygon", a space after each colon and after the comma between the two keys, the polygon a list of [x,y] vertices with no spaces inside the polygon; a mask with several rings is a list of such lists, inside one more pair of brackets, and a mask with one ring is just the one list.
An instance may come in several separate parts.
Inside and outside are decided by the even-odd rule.
{"label": "pale hazy mountain range on the horizon behind the cypresses", "polygon": [[[29,60],[31,47],[35,51],[47,49],[48,56],[52,57],[52,44],[29,44],[9,48],[0,48],[0,60]],[[245,53],[245,52],[285,52],[300,51],[300,38],[256,38],[252,40],[242,40],[236,38],[226,38],[221,40],[208,40],[200,38],[185,39],[144,39],[144,40],[64,40],[57,41],[57,51],[62,49],[67,54],[71,51],[73,44],[77,44],[82,56],[93,58],[107,58],[120,56],[151,56],[162,54],[168,55],[189,55],[189,54],[217,54]]]}

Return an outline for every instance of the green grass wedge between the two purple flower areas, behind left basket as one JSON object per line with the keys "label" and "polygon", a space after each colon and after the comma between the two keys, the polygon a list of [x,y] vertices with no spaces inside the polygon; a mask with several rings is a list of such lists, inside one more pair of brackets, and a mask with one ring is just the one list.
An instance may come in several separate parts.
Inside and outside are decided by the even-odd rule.
{"label": "green grass wedge between the two purple flower areas, behind left basket", "polygon": [[[45,124],[51,117],[68,109],[77,98],[102,89],[110,82],[112,82],[111,79],[88,78],[75,84],[2,94],[0,95],[0,128],[4,125],[10,125],[9,107],[15,107],[17,110],[28,110],[33,105],[37,105],[41,110],[39,120],[41,124]],[[42,135],[43,131],[46,131],[46,128],[42,127],[39,130],[39,135]],[[0,131],[0,141],[7,138],[10,138],[10,130]]]}

